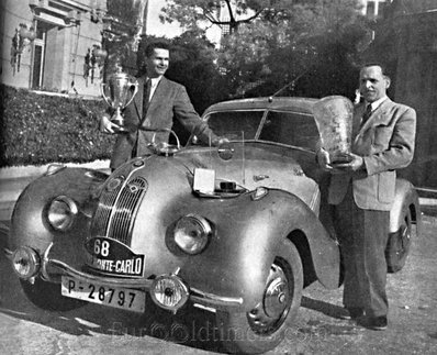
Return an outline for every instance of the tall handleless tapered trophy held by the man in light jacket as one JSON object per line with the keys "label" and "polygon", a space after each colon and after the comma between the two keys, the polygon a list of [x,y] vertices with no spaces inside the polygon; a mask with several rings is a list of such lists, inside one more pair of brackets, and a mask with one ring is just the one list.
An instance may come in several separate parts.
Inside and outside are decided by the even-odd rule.
{"label": "tall handleless tapered trophy held by the man in light jacket", "polygon": [[341,96],[329,96],[314,104],[313,113],[322,147],[328,152],[330,165],[351,162],[352,102]]}

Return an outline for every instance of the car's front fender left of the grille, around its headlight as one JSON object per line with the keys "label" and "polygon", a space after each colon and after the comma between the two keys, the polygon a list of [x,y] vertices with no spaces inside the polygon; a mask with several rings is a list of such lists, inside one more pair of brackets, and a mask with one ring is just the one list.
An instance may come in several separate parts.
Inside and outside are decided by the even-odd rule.
{"label": "car's front fender left of the grille, around its headlight", "polygon": [[[98,170],[61,166],[36,178],[15,202],[8,248],[14,251],[26,245],[42,254],[58,237],[65,243],[66,253],[78,249],[81,245],[79,236],[83,236],[89,228],[92,193],[105,178],[107,175]],[[77,219],[68,232],[54,230],[47,221],[51,201],[61,195],[70,197],[79,208]],[[71,237],[65,237],[66,235]]]}

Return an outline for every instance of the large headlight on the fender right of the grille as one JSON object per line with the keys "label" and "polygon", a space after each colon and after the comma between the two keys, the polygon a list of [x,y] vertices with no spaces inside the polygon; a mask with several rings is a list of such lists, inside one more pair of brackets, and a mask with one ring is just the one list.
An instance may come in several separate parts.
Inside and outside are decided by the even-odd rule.
{"label": "large headlight on the fender right of the grille", "polygon": [[175,242],[187,254],[202,252],[212,234],[212,228],[203,217],[187,214],[175,225]]}

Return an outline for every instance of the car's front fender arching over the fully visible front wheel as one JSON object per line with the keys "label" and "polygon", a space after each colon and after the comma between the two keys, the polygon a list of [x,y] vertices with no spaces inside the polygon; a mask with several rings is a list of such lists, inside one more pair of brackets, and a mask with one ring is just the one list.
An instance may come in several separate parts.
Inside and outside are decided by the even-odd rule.
{"label": "car's front fender arching over the fully visible front wheel", "polygon": [[[249,310],[260,299],[278,248],[284,238],[296,244],[304,273],[314,274],[329,288],[339,285],[339,251],[311,209],[298,197],[282,190],[268,190],[254,201],[246,193],[222,201],[221,212],[199,201],[199,213],[217,226],[208,248],[187,258],[182,277],[195,289],[245,300]],[[194,208],[194,204],[192,206]],[[215,212],[214,212],[215,211]]]}

